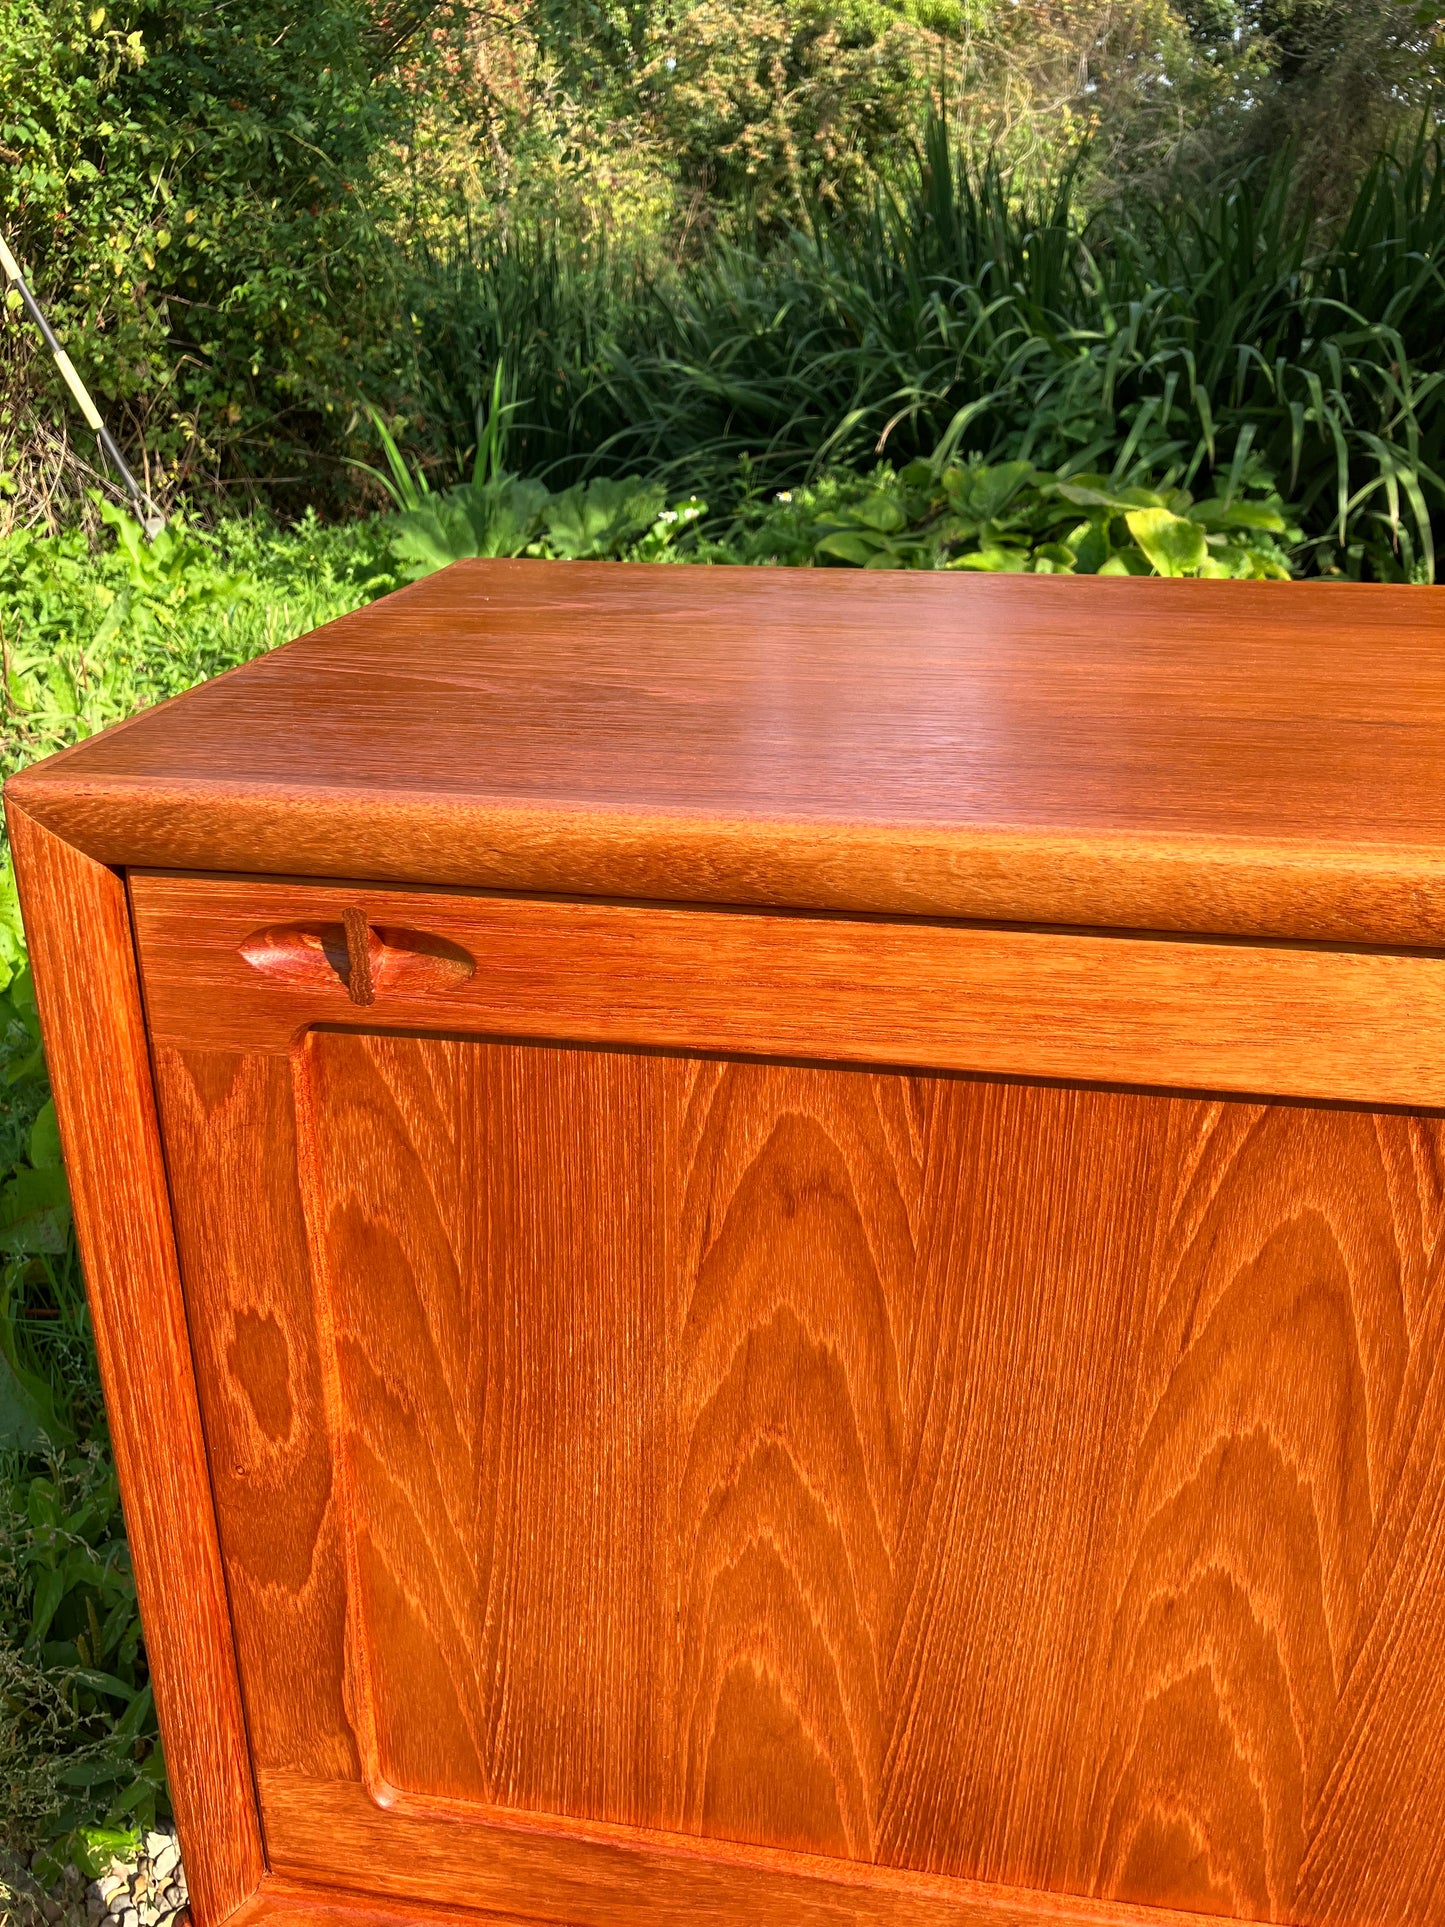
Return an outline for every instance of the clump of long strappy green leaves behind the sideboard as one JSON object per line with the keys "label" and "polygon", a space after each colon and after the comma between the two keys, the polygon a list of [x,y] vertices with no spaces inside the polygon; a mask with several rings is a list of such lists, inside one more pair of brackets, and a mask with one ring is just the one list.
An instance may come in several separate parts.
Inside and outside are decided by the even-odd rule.
{"label": "clump of long strappy green leaves behind the sideboard", "polygon": [[986,462],[1127,486],[1229,493],[1262,464],[1299,503],[1306,567],[1432,580],[1441,254],[1433,139],[1381,158],[1318,239],[1285,162],[1089,218],[1073,173],[1019,198],[934,121],[865,220],[819,216],[765,254],[719,247],[649,281],[532,235],[472,283],[453,270],[428,316],[430,395],[460,445],[474,358],[493,368],[536,304],[549,331],[511,360],[528,472],[663,472],[728,513],[740,457],[798,488],[879,451],[906,466],[965,416],[961,447]]}

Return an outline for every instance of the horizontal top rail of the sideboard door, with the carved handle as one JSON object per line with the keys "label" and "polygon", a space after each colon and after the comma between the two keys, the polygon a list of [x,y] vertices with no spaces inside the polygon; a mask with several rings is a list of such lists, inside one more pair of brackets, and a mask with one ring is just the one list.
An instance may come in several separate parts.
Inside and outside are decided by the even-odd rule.
{"label": "horizontal top rail of the sideboard door, with the carved handle", "polygon": [[[131,898],[152,1035],[181,1050],[281,1052],[312,1023],[385,1023],[1445,1104],[1433,954],[164,873],[135,875]],[[430,933],[476,967],[424,987],[380,967],[366,1010],[320,948],[314,969],[270,967],[277,927],[343,913]]]}

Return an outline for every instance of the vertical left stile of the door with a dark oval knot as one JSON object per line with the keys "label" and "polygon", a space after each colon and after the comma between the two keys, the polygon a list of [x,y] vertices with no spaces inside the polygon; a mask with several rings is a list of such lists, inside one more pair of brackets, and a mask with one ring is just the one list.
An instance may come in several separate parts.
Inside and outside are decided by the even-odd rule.
{"label": "vertical left stile of the door with a dark oval knot", "polygon": [[154,1060],[252,1752],[358,1779],[291,1062]]}

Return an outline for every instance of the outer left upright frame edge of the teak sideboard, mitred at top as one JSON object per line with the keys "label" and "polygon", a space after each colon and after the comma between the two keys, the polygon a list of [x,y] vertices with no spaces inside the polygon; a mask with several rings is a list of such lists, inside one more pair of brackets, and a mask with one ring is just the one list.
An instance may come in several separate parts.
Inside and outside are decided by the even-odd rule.
{"label": "outer left upright frame edge of the teak sideboard, mitred at top", "polygon": [[220,1927],[262,1848],[125,886],[6,819],[191,1906]]}

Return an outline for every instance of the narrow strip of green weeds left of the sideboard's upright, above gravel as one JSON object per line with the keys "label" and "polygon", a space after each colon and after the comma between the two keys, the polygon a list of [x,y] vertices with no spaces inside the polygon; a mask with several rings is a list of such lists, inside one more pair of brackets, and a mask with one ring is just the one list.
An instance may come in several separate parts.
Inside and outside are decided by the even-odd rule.
{"label": "narrow strip of green weeds left of the sideboard's upright, above gravel", "polygon": [[54,1861],[92,1863],[164,1811],[164,1763],[135,1582],[6,863],[0,869],[0,1838],[25,1850],[48,1842]]}

